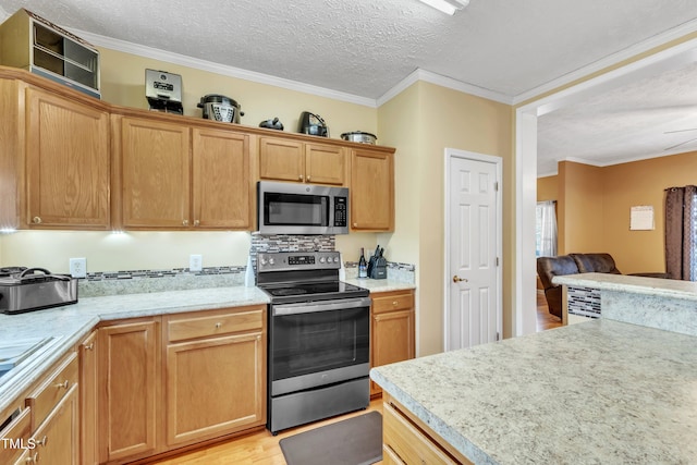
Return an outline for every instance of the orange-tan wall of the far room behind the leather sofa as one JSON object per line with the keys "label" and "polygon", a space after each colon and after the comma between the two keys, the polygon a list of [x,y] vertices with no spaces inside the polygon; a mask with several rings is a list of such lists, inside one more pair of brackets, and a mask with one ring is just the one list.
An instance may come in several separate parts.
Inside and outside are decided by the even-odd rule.
{"label": "orange-tan wall of the far room behind the leather sofa", "polygon": [[[697,151],[604,168],[564,161],[538,179],[538,200],[558,200],[560,254],[607,252],[624,273],[665,271],[664,191],[695,183]],[[631,231],[633,206],[653,207],[656,229]],[[563,246],[562,246],[563,244]]]}

